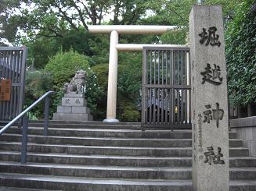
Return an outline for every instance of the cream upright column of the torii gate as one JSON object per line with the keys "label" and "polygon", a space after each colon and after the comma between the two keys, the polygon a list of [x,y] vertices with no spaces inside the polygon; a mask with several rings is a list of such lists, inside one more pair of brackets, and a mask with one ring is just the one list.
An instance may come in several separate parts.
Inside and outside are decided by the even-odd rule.
{"label": "cream upright column of the torii gate", "polygon": [[106,119],[103,122],[119,122],[117,115],[117,62],[118,33],[113,30],[110,35],[110,62],[107,87]]}

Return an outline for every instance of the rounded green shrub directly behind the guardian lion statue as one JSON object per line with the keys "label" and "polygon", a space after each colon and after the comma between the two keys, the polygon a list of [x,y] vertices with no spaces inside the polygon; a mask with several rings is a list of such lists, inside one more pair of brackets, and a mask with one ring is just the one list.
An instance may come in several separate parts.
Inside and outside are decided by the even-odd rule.
{"label": "rounded green shrub directly behind the guardian lion statue", "polygon": [[80,69],[83,69],[87,74],[85,97],[88,101],[88,107],[91,108],[92,115],[97,115],[97,101],[102,96],[103,91],[99,88],[95,73],[88,65],[88,57],[72,49],[67,52],[59,51],[45,65],[45,71],[51,73],[55,85],[56,95],[54,96],[53,111],[56,110],[57,105],[60,104],[61,97],[63,97],[64,83],[69,83],[74,74]]}

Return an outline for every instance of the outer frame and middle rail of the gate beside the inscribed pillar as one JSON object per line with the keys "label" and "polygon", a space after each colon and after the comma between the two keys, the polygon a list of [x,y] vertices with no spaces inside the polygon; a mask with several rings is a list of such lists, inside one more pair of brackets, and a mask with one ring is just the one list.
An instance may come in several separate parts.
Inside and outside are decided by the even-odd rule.
{"label": "outer frame and middle rail of the gate beside the inscribed pillar", "polygon": [[[154,122],[154,123],[147,123],[146,122],[146,113],[147,111],[147,107],[146,107],[146,104],[147,104],[147,101],[146,101],[146,67],[147,67],[147,56],[146,56],[146,51],[189,51],[189,56],[188,56],[188,71],[187,73],[189,74],[189,79],[188,79],[188,82],[189,82],[189,85],[175,85],[175,84],[168,84],[168,85],[158,85],[158,84],[152,84],[150,86],[153,86],[152,88],[157,88],[157,86],[163,86],[162,88],[166,88],[166,89],[171,89],[171,90],[175,90],[175,88],[180,88],[180,89],[185,89],[185,90],[189,90],[189,103],[188,103],[188,122],[186,124],[178,124],[178,123],[171,123],[171,122],[168,122],[168,124],[160,124],[160,123],[157,123],[157,122]],[[173,58],[171,58],[173,59]],[[171,61],[171,66],[174,67],[173,65],[175,64],[174,60]],[[173,75],[173,68],[171,69],[171,74]],[[170,74],[170,75],[171,75]],[[186,74],[187,75],[187,74]],[[171,76],[171,80],[172,80],[172,76]],[[187,81],[186,81],[187,83]],[[156,87],[154,87],[156,86]],[[165,86],[165,87],[164,87]],[[164,46],[164,44],[161,46],[160,44],[158,46],[154,46],[152,44],[152,46],[150,45],[147,45],[147,46],[143,46],[142,48],[142,130],[144,130],[146,127],[160,127],[160,128],[164,128],[164,129],[191,129],[191,62],[190,62],[190,48],[189,46],[186,46],[186,45],[169,45],[169,46]],[[151,93],[150,93],[151,94]],[[172,96],[173,96],[174,92],[172,92]],[[171,106],[173,106],[173,104],[171,103],[170,104],[170,111],[171,109]],[[172,113],[169,115],[172,115]]]}

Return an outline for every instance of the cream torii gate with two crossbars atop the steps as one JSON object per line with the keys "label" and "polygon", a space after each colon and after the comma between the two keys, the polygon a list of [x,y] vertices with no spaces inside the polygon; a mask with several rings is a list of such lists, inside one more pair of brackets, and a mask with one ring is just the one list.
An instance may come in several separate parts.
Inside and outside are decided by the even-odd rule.
{"label": "cream torii gate with two crossbars atop the steps", "polygon": [[142,51],[145,46],[175,46],[170,44],[118,44],[118,34],[164,34],[168,30],[177,30],[177,26],[154,25],[91,25],[91,34],[110,34],[109,76],[107,88],[106,119],[103,122],[119,122],[117,110],[117,63],[118,51]]}

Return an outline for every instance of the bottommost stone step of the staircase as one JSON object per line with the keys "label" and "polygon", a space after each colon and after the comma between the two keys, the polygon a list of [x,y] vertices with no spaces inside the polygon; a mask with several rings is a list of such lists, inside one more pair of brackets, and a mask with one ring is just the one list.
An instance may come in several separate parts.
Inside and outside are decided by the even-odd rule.
{"label": "bottommost stone step of the staircase", "polygon": [[[193,191],[191,180],[88,179],[2,173],[2,186],[76,191]],[[255,181],[230,181],[230,191],[255,190]]]}

